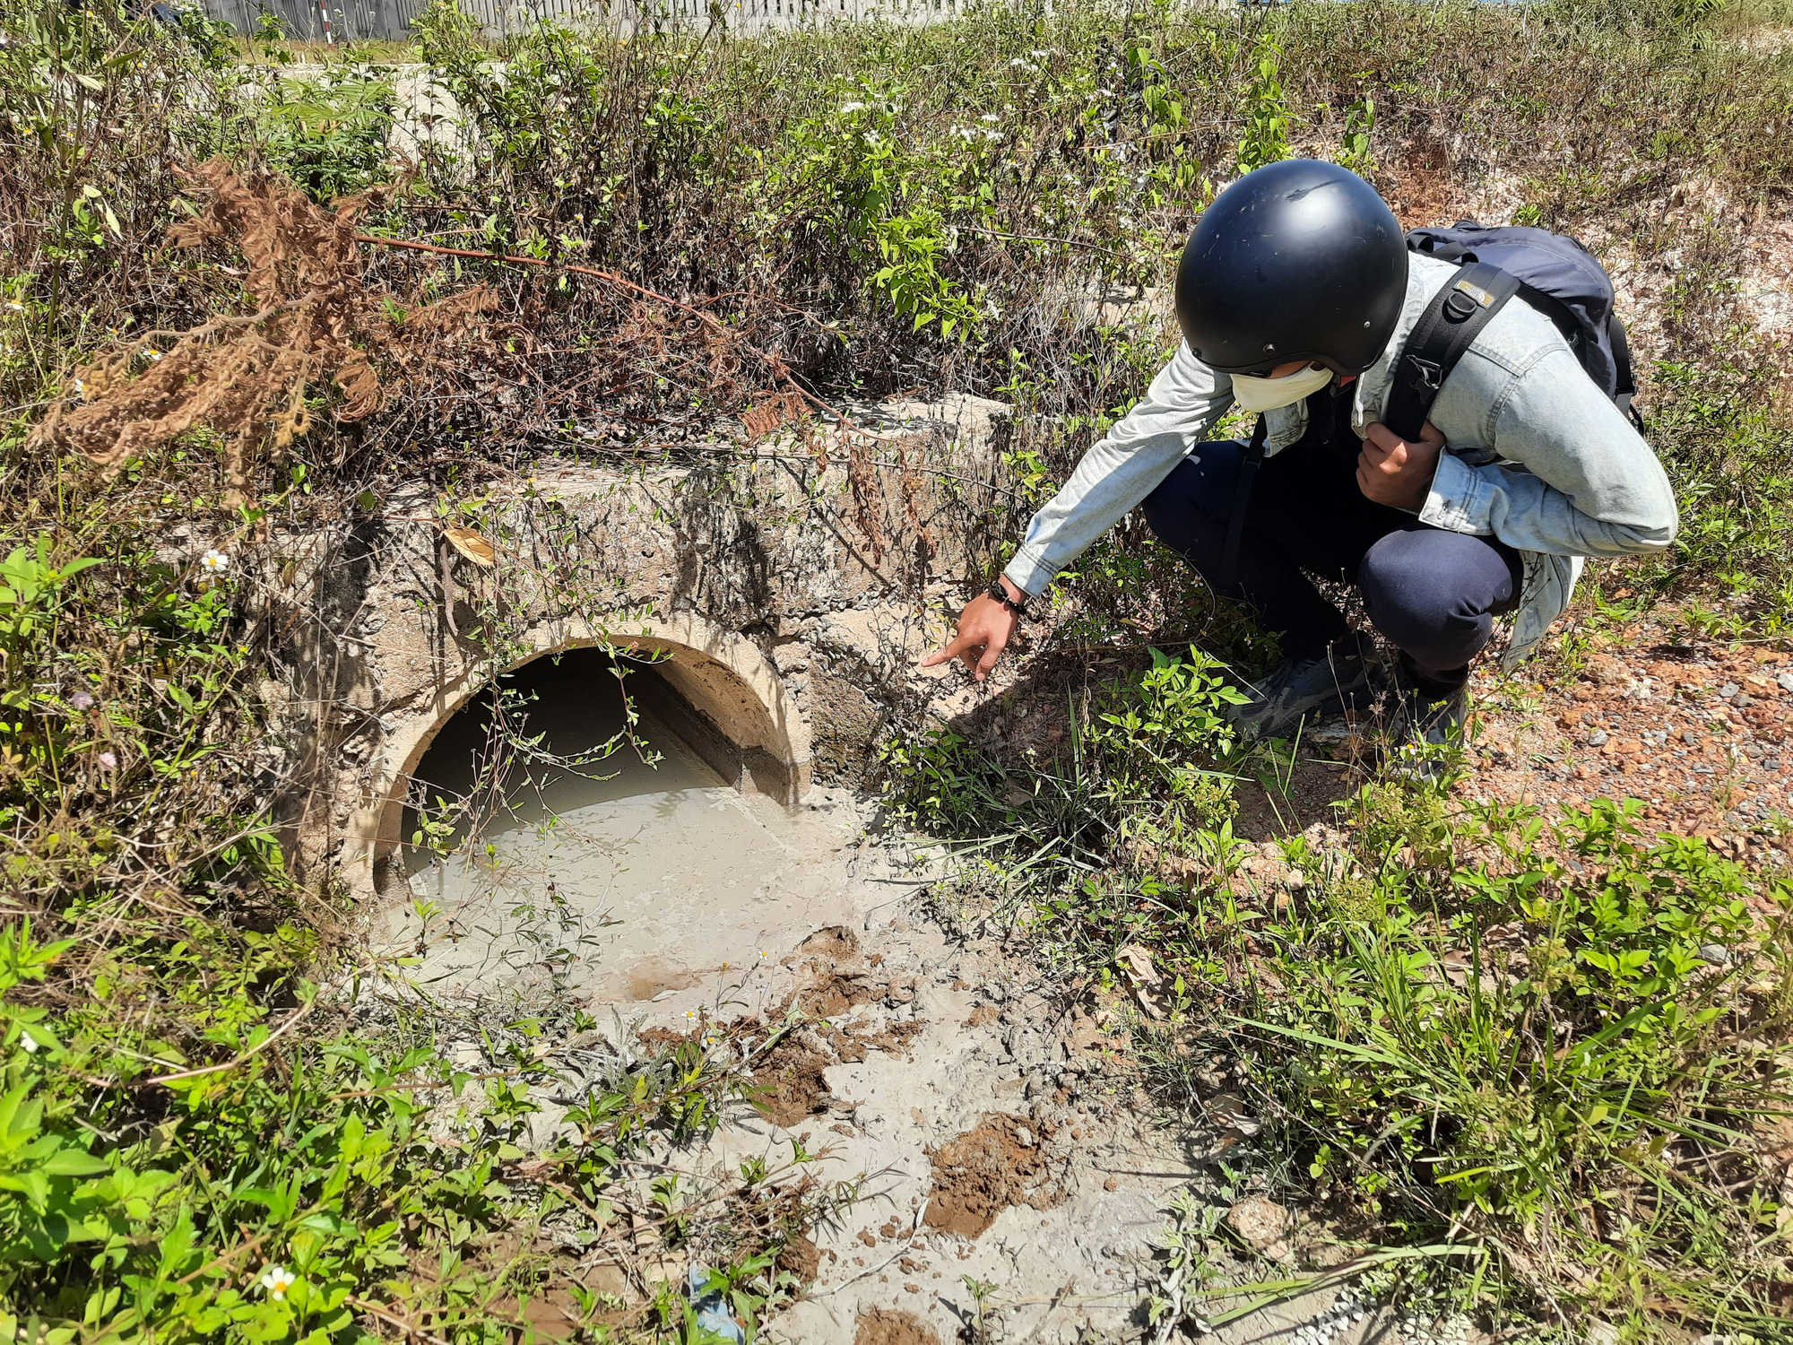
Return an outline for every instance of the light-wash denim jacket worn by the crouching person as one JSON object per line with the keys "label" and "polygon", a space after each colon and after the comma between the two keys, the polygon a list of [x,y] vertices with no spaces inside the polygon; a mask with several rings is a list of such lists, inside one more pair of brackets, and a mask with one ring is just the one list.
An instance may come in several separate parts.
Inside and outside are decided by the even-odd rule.
{"label": "light-wash denim jacket worn by the crouching person", "polygon": [[[1411,258],[1395,335],[1356,384],[1352,429],[1359,436],[1382,414],[1408,332],[1454,274],[1449,262]],[[1027,594],[1042,592],[1151,495],[1232,402],[1232,378],[1180,346],[1146,396],[1033,516],[1004,574]],[[1657,456],[1583,373],[1562,334],[1522,299],[1476,337],[1445,378],[1431,423],[1445,436],[1445,452],[1420,520],[1495,536],[1524,556],[1513,635],[1501,660],[1506,669],[1569,606],[1587,556],[1662,551],[1675,540],[1675,491]],[[1268,412],[1264,452],[1282,452],[1305,429],[1305,402]]]}

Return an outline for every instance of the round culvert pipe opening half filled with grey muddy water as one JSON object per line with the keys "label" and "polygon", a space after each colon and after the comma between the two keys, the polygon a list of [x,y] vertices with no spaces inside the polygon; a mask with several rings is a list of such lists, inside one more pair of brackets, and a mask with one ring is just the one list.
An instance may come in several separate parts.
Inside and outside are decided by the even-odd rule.
{"label": "round culvert pipe opening half filled with grey muddy water", "polygon": [[418,744],[389,807],[382,924],[420,981],[663,1001],[845,916],[839,837],[785,805],[803,773],[762,746],[764,703],[714,660],[654,653],[536,658]]}

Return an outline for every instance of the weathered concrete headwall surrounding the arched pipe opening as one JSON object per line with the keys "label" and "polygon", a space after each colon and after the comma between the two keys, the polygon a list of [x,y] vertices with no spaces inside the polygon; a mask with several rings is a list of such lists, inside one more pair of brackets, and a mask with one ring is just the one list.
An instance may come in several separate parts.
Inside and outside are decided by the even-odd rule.
{"label": "weathered concrete headwall surrounding the arched pipe opening", "polygon": [[[541,459],[464,482],[455,499],[484,504],[459,515],[416,486],[333,540],[294,538],[317,585],[283,690],[305,782],[285,812],[296,861],[380,888],[443,723],[498,672],[577,646],[660,658],[658,694],[681,703],[644,708],[680,717],[744,791],[791,803],[812,780],[861,782],[913,660],[988,577],[1017,502],[1000,404],[884,404],[857,421],[857,497],[803,443],[715,445],[678,466]],[[455,551],[450,522],[497,563]]]}

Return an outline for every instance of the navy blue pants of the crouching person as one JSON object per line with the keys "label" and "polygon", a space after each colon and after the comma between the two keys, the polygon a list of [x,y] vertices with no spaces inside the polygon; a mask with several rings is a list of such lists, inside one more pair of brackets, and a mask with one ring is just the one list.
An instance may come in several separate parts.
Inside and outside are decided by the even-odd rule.
{"label": "navy blue pants of the crouching person", "polygon": [[[1219,572],[1243,457],[1241,443],[1203,443],[1146,497],[1151,531],[1203,576]],[[1447,533],[1366,500],[1356,459],[1298,447],[1259,468],[1237,572],[1221,592],[1277,631],[1287,658],[1311,658],[1350,624],[1309,572],[1357,585],[1370,620],[1427,694],[1468,680],[1468,662],[1520,586],[1519,552],[1504,542]]]}

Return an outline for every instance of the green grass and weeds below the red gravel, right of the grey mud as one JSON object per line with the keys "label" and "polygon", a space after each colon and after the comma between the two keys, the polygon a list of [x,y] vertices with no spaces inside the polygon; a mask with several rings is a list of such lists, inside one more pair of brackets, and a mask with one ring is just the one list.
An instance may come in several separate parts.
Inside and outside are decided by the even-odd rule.
{"label": "green grass and weeds below the red gravel, right of the grey mud", "polygon": [[[1112,739],[1108,769],[1192,748],[1226,753]],[[1345,807],[1345,845],[1287,841],[1300,877],[1266,888],[1235,875],[1223,796],[1171,836],[1133,775],[1092,834],[1103,814],[1076,809],[1072,830],[1038,805],[1076,757],[1027,762],[1031,798],[992,789],[1000,768],[956,737],[893,762],[936,834],[984,837],[947,909],[1024,931],[1110,1002],[1137,985],[1119,950],[1149,950],[1144,1076],[1189,1121],[1217,1089],[1246,1099],[1264,1130],[1232,1169],[1348,1248],[1431,1248],[1379,1263],[1379,1293],[1490,1329],[1567,1315],[1639,1341],[1678,1323],[1775,1338],[1793,1300],[1770,1158],[1793,1115],[1786,873],[1650,836],[1635,802],[1546,825],[1382,784]]]}

